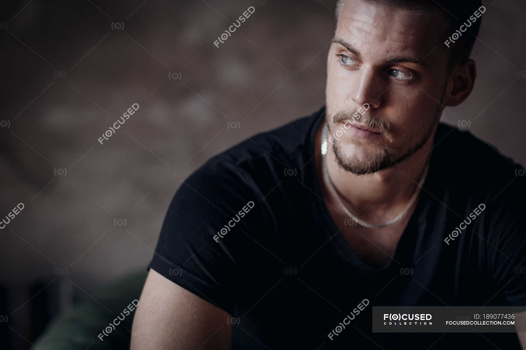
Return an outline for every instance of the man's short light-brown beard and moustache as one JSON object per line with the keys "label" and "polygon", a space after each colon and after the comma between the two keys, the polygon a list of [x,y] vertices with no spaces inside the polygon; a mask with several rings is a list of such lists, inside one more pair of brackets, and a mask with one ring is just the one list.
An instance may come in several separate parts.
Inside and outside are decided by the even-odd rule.
{"label": "man's short light-brown beard and moustache", "polygon": [[[429,137],[431,137],[434,126],[440,120],[440,108],[442,106],[445,94],[446,89],[444,87],[440,104],[434,111],[434,115],[432,116],[431,120],[428,120],[428,122],[427,120],[423,120],[419,125],[416,125],[416,129],[422,130],[422,132],[419,136],[417,136],[418,138],[416,142],[412,142],[411,147],[409,147],[409,149],[402,155],[399,155],[395,158],[396,149],[401,149],[401,147],[411,142],[411,140],[414,138],[412,137],[412,134],[404,134],[401,140],[396,142],[395,137],[393,137],[392,125],[388,121],[374,116],[371,110],[368,109],[365,113],[360,115],[360,121],[369,128],[378,130],[382,134],[382,137],[386,139],[386,145],[379,147],[379,149],[372,155],[359,158],[356,155],[346,156],[342,150],[339,140],[335,139],[332,142],[332,150],[334,152],[336,162],[340,168],[355,175],[373,174],[393,165],[399,164],[405,158],[420,150],[422,146],[426,144]],[[328,109],[326,109],[326,111],[328,111]],[[327,112],[325,118],[327,125],[329,126],[330,134],[332,134],[332,131],[330,130],[331,124],[329,121],[332,121],[333,124],[336,124],[342,121],[350,121],[351,119],[355,120],[352,118],[352,116],[356,115],[357,112],[358,110],[352,112],[338,112],[332,116]],[[366,140],[360,139],[358,137],[353,137],[352,140],[356,144],[365,144],[367,142]]]}

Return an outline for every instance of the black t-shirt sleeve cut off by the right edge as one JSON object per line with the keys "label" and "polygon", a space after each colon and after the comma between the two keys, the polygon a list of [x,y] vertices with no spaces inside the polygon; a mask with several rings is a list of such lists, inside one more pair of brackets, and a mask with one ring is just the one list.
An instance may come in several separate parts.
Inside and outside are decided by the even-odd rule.
{"label": "black t-shirt sleeve cut off by the right edge", "polygon": [[526,181],[516,177],[488,206],[489,269],[511,306],[526,306]]}

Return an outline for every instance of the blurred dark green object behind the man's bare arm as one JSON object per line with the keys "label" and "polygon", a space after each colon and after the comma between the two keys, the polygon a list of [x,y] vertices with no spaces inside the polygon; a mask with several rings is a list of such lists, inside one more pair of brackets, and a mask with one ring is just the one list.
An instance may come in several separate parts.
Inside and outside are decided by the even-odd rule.
{"label": "blurred dark green object behind the man's bare arm", "polygon": [[[123,310],[139,299],[147,273],[135,272],[110,283],[93,295],[95,300],[89,298],[59,315],[36,339],[34,346],[39,350],[129,349],[135,309],[131,305],[133,311],[128,315]],[[115,323],[120,323],[113,329],[110,323],[117,316],[120,319]]]}

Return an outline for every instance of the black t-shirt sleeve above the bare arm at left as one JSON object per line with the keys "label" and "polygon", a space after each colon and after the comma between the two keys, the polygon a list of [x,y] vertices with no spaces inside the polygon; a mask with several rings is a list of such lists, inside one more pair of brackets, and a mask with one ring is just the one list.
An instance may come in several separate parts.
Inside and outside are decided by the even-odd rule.
{"label": "black t-shirt sleeve above the bare arm at left", "polygon": [[211,158],[175,193],[147,268],[232,315],[243,263],[235,236],[261,227],[260,210],[236,164]]}

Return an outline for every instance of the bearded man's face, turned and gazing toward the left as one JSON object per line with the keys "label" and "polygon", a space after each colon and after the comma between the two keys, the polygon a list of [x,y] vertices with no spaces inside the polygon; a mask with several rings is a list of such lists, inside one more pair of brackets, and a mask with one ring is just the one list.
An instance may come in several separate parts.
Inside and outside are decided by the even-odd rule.
{"label": "bearded man's face, turned and gazing toward the left", "polygon": [[447,82],[440,20],[361,0],[343,6],[327,57],[326,120],[346,171],[397,164],[433,134]]}

